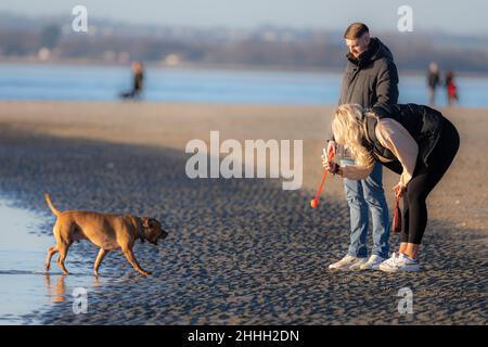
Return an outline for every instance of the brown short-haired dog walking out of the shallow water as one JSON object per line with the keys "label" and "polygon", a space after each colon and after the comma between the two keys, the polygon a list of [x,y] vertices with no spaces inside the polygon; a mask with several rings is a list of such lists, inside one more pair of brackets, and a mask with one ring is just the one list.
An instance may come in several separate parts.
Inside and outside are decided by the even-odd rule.
{"label": "brown short-haired dog walking out of the shallow water", "polygon": [[147,240],[152,244],[157,245],[159,239],[165,239],[168,235],[156,219],[84,210],[60,211],[53,206],[48,193],[44,193],[44,197],[52,213],[57,217],[53,228],[56,245],[48,250],[46,271],[49,271],[52,256],[59,252],[57,265],[64,274],[68,274],[68,271],[64,267],[64,260],[66,259],[69,246],[75,241],[89,240],[100,247],[94,262],[95,275],[99,275],[99,267],[105,255],[110,250],[115,249],[121,249],[127,260],[137,271],[144,275],[151,274],[151,272],[143,270],[138,264],[132,247],[138,239],[141,242]]}

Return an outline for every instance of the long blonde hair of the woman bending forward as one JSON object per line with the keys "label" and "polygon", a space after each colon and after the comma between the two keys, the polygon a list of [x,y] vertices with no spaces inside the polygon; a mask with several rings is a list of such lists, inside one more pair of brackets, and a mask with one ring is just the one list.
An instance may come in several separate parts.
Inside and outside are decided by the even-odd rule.
{"label": "long blonde hair of the woman bending forward", "polygon": [[370,168],[374,165],[374,157],[363,145],[364,129],[361,120],[363,112],[358,104],[338,106],[332,120],[332,131],[335,141],[347,145],[358,165]]}

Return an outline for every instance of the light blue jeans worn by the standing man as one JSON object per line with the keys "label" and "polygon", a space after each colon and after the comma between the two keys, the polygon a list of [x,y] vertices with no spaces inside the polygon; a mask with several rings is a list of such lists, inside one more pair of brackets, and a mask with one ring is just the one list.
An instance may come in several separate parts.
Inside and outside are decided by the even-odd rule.
{"label": "light blue jeans worn by the standing man", "polygon": [[367,236],[369,210],[373,218],[373,250],[371,254],[388,258],[389,216],[383,190],[383,166],[375,164],[371,175],[361,181],[344,180],[350,211],[350,244],[348,255],[368,257]]}

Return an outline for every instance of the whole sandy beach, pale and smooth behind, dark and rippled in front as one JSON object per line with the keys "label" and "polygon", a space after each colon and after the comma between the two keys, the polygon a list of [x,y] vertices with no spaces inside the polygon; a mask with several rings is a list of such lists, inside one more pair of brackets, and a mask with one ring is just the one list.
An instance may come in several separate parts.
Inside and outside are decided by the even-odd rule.
{"label": "whole sandy beach, pale and smooth behind, dark and rippled in front", "polygon": [[[428,200],[420,273],[330,272],[345,255],[348,208],[342,180],[309,201],[333,106],[0,102],[0,190],[46,211],[150,215],[170,232],[158,247],[139,244],[142,278],[120,254],[102,275],[117,281],[90,292],[89,312],[72,301],[26,316],[48,324],[486,324],[488,274],[488,110],[441,112],[461,134],[459,154]],[[188,141],[220,138],[303,140],[300,190],[280,179],[196,179],[184,172]],[[384,170],[390,208],[398,176]],[[39,230],[50,234],[46,228]],[[371,239],[371,237],[370,237]],[[391,247],[398,235],[391,235]],[[74,245],[66,266],[91,273],[97,248]],[[86,256],[85,256],[86,254]],[[54,266],[55,267],[55,266]],[[57,269],[56,269],[57,270]],[[397,311],[410,287],[414,313]],[[68,295],[68,293],[66,293]]]}

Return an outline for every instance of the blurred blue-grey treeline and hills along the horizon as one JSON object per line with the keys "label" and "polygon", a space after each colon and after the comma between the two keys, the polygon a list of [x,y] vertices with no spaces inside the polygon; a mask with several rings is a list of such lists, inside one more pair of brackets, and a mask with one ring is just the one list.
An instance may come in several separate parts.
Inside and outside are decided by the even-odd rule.
{"label": "blurred blue-grey treeline and hills along the horizon", "polygon": [[[339,31],[260,27],[236,33],[99,23],[97,30],[91,27],[86,34],[74,33],[62,23],[39,21],[36,25],[29,20],[23,26],[18,21],[0,25],[0,59],[36,57],[47,49],[49,59],[57,61],[328,69],[342,69],[345,64],[346,47]],[[416,31],[373,36],[389,47],[400,69],[425,70],[435,61],[442,70],[488,73],[488,37]]]}

